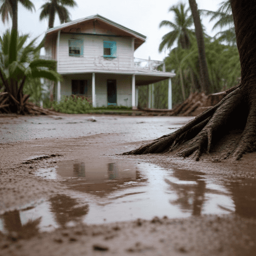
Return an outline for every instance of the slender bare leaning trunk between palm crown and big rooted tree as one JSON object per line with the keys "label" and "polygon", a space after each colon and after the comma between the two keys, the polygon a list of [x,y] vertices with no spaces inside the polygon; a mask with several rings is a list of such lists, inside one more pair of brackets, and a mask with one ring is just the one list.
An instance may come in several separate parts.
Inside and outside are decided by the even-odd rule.
{"label": "slender bare leaning trunk between palm crown and big rooted tree", "polygon": [[195,0],[188,0],[188,1],[189,1],[190,9],[192,12],[193,20],[194,20],[195,36],[196,36],[197,47],[198,47],[202,92],[204,92],[207,95],[209,94],[210,79],[209,79],[206,56],[205,56],[202,25],[201,25],[196,1]]}

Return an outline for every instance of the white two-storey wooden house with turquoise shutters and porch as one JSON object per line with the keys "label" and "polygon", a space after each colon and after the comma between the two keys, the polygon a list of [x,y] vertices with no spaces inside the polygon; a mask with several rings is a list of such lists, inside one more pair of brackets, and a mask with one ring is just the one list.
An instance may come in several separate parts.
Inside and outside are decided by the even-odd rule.
{"label": "white two-storey wooden house with turquoise shutters and porch", "polygon": [[156,70],[161,61],[134,58],[145,38],[98,14],[48,29],[45,55],[57,61],[63,77],[57,83],[56,99],[82,94],[91,97],[93,106],[136,108],[137,86],[169,79],[171,108],[170,78],[175,74]]}

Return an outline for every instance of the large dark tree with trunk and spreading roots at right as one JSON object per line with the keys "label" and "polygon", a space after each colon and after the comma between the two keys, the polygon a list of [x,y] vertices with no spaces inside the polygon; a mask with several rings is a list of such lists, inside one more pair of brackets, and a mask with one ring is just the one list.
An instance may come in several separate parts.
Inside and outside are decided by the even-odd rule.
{"label": "large dark tree with trunk and spreading roots at right", "polygon": [[173,133],[124,154],[168,152],[199,160],[204,152],[230,133],[240,131],[228,141],[223,158],[239,159],[256,151],[256,3],[254,0],[231,0],[237,47],[241,63],[241,83],[226,91],[215,106],[197,115]]}

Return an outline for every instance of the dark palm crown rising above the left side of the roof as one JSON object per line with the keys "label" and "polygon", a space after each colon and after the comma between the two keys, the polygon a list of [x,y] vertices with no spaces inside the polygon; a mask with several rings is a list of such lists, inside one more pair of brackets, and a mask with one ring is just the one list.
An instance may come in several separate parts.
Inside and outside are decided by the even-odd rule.
{"label": "dark palm crown rising above the left side of the roof", "polygon": [[48,18],[48,28],[51,28],[54,25],[55,13],[57,12],[60,23],[70,21],[70,13],[65,6],[75,7],[77,4],[74,0],[49,0],[41,6],[39,20]]}

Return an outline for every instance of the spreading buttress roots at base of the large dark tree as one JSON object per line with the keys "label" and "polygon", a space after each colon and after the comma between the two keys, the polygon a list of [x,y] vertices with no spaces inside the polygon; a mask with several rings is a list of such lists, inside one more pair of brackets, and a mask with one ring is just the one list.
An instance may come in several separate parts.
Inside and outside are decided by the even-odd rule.
{"label": "spreading buttress roots at base of the large dark tree", "polygon": [[256,105],[245,87],[240,84],[227,90],[219,103],[178,130],[123,154],[171,153],[199,160],[202,153],[209,153],[220,138],[234,130],[240,130],[241,135],[225,157],[239,159],[244,153],[255,151]]}

